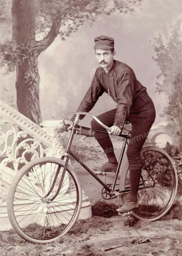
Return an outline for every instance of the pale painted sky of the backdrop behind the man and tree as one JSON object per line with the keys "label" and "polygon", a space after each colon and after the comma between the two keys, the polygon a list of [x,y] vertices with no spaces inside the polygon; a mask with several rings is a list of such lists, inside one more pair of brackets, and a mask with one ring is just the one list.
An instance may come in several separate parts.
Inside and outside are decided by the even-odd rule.
{"label": "pale painted sky of the backdrop behind the man and tree", "polygon": [[[1,2],[3,4],[3,1]],[[17,16],[19,13],[16,14],[12,12],[11,14],[11,1],[4,2],[5,6],[4,9],[2,9],[2,14],[0,16],[2,17],[0,20],[0,56],[1,58],[5,56],[5,60],[1,62],[2,68],[0,70],[1,99],[10,106],[17,108],[15,87],[17,64],[16,58],[20,59],[20,57],[22,57],[23,59],[23,55],[20,55],[23,54],[23,52],[20,50],[19,56],[13,56],[13,60],[11,57],[8,59],[6,52],[12,54],[11,50],[8,49],[8,46],[12,46],[11,40],[16,39],[17,36],[16,28],[13,27],[12,29],[12,20],[14,21],[14,24],[15,22],[19,22],[20,25],[25,22],[23,19],[26,20],[26,18],[22,14],[22,21],[18,21]],[[16,5],[17,1],[13,2],[14,5]],[[41,5],[46,1],[37,1],[37,4],[38,2],[39,5]],[[70,2],[72,2],[72,8],[74,7],[76,10],[82,8],[82,6],[79,7],[79,1]],[[73,4],[73,2],[75,2],[75,4]],[[93,4],[93,2],[97,1],[82,2],[85,4],[85,8],[87,7],[89,9],[90,2]],[[112,1],[110,1],[110,8],[108,6],[104,6],[104,1],[98,2],[102,3],[100,7],[99,5],[97,6],[98,14],[94,14],[93,12],[91,14],[92,16],[90,16],[90,13],[80,12],[80,15],[83,13],[88,14],[90,17],[88,19],[85,18],[83,25],[78,26],[78,30],[76,30],[76,32],[72,32],[69,34],[69,36],[66,36],[67,31],[69,30],[69,28],[66,28],[64,38],[62,35],[60,35],[61,32],[58,33],[57,36],[53,38],[54,40],[52,39],[53,42],[50,44],[50,46],[47,48],[45,47],[45,50],[43,50],[43,52],[41,52],[39,55],[37,54],[38,63],[36,64],[38,66],[40,76],[40,80],[39,77],[37,79],[39,80],[40,88],[39,98],[41,118],[33,118],[35,118],[36,122],[49,119],[60,120],[66,112],[75,111],[77,109],[80,101],[90,86],[96,68],[98,68],[93,47],[94,38],[101,34],[113,37],[115,39],[115,59],[125,62],[131,66],[137,76],[137,79],[141,82],[141,84],[143,84],[143,86],[147,87],[147,91],[153,99],[157,110],[155,124],[170,120],[171,117],[174,118],[174,116],[167,114],[160,117],[160,114],[163,113],[164,107],[168,106],[169,100],[167,97],[169,90],[171,90],[172,93],[173,88],[172,84],[170,85],[171,88],[166,84],[165,86],[168,86],[166,88],[167,95],[165,93],[159,94],[157,92],[156,82],[162,82],[162,79],[164,78],[163,75],[166,72],[165,68],[167,69],[167,67],[161,66],[161,61],[164,61],[164,58],[162,60],[162,56],[159,56],[159,61],[155,61],[153,59],[153,56],[156,58],[157,53],[160,52],[159,48],[155,48],[160,46],[159,41],[157,41],[157,39],[155,40],[154,37],[159,38],[159,33],[161,33],[161,41],[168,44],[168,41],[172,40],[169,38],[172,30],[179,29],[179,31],[176,31],[176,33],[181,35],[181,27],[178,26],[177,28],[177,25],[175,25],[175,22],[178,22],[181,15],[181,1],[135,1],[138,2],[138,4],[135,4],[134,1],[129,1],[131,2],[129,9],[133,9],[132,11],[127,10],[126,8],[126,10],[123,9],[123,12],[121,13],[119,13],[119,10],[115,10],[114,12],[111,12],[110,15],[106,15],[106,13],[109,9],[112,9]],[[123,1],[123,3],[125,2],[126,1]],[[84,5],[83,3],[82,5]],[[33,12],[29,6],[27,8],[29,8],[30,12]],[[48,8],[50,8],[50,13],[47,10],[45,12],[48,12],[47,19],[49,19],[49,22],[44,20],[43,15],[38,19],[38,14],[35,13],[35,18],[37,21],[35,24],[36,40],[43,40],[43,38],[46,37],[51,27],[51,19],[53,20],[51,12],[54,10],[57,12],[59,10],[59,3],[57,6],[50,5]],[[65,8],[65,6],[62,8]],[[105,14],[100,13],[100,11],[104,13],[103,8],[105,8]],[[16,6],[14,6],[14,9],[16,10]],[[17,10],[17,12],[18,11],[19,10]],[[24,12],[27,12],[27,10],[24,10]],[[95,20],[94,22],[92,17],[93,20]],[[80,18],[80,20],[83,19]],[[73,30],[75,30],[75,26],[76,25],[73,26]],[[173,28],[170,28],[170,26],[173,26]],[[64,31],[63,24],[60,28],[60,31],[61,30]],[[23,31],[19,32],[22,34],[24,33]],[[174,38],[174,44],[177,42],[176,40],[178,39]],[[5,46],[3,47],[4,44]],[[178,49],[178,51],[180,50]],[[174,54],[176,54],[176,56],[174,56]],[[173,57],[178,58],[178,56],[179,52],[173,53]],[[22,59],[20,61],[22,61]],[[26,58],[24,59],[24,62],[25,61]],[[170,62],[170,60],[168,60],[168,62]],[[170,63],[168,63],[168,67],[169,66]],[[7,72],[6,68],[9,68],[9,72],[5,75],[5,72]],[[162,69],[162,71],[160,69]],[[24,70],[24,72],[26,72],[26,70]],[[162,74],[162,76],[160,76],[158,79],[157,76],[160,74]],[[31,77],[30,79],[33,80],[34,78]],[[26,83],[26,80],[24,80],[24,82]],[[30,101],[30,104],[33,104],[33,101]],[[96,106],[92,110],[92,113],[100,114],[112,108],[115,108],[115,105],[110,103],[107,95],[105,94],[99,99]],[[84,124],[89,124],[89,120],[88,122],[86,122],[86,120],[87,118],[83,120]],[[176,122],[178,123],[178,121]]]}

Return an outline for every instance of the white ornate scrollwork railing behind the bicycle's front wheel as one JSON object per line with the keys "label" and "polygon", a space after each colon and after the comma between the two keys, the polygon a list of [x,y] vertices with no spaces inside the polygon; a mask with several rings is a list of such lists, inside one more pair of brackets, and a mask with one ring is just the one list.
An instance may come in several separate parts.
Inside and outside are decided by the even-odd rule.
{"label": "white ornate scrollwork railing behind the bicycle's front wheel", "polygon": [[[20,142],[21,140],[21,142]],[[17,144],[18,142],[18,144]],[[42,156],[61,158],[63,146],[14,108],[0,103],[0,230],[10,228],[6,200],[8,189],[21,166]],[[80,218],[91,217],[91,206],[83,192]],[[71,202],[70,202],[71,203]]]}

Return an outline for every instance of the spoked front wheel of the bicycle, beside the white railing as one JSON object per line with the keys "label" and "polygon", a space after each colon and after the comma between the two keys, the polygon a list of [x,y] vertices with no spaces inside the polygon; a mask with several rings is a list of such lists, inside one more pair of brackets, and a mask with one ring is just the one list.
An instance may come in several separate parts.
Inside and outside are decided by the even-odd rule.
{"label": "spoked front wheel of the bicycle, beside the white railing", "polygon": [[[82,190],[74,171],[67,167],[59,194],[54,200],[65,162],[37,158],[21,168],[8,193],[8,216],[14,230],[25,240],[46,244],[67,234],[82,205]],[[53,180],[59,170],[49,196]]]}

